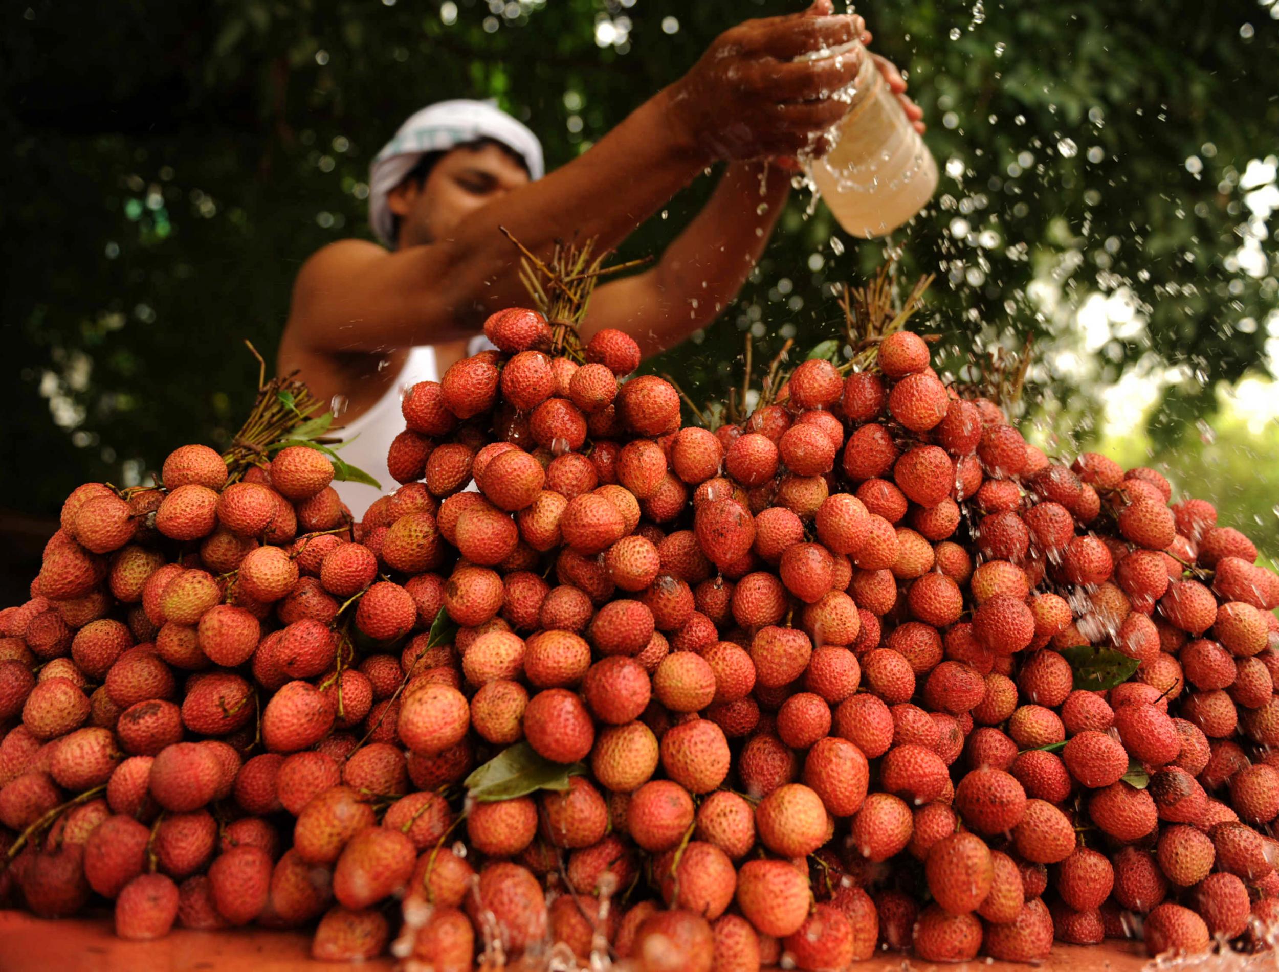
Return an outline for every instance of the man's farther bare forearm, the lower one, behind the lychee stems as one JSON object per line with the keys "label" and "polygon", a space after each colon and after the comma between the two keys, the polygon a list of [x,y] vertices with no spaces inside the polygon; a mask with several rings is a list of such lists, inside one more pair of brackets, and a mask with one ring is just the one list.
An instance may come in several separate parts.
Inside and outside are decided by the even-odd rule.
{"label": "man's farther bare forearm, the lower one, behind the lychee stems", "polygon": [[730,164],[657,266],[596,289],[582,335],[616,327],[647,357],[712,321],[746,283],[789,191],[790,173],[778,165]]}

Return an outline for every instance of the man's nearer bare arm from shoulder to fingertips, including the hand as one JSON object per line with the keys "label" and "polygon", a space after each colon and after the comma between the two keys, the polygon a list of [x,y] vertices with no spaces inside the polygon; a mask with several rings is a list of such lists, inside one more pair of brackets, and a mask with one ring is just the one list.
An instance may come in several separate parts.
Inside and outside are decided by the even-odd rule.
{"label": "man's nearer bare arm from shoulder to fingertips, including the hand", "polygon": [[345,240],[316,253],[298,275],[289,329],[321,353],[473,333],[487,312],[526,299],[499,226],[538,253],[574,235],[614,247],[712,159],[793,153],[844,107],[821,93],[856,74],[853,59],[793,58],[861,29],[854,17],[796,14],[725,32],[588,152],[485,206],[451,239],[396,253]]}

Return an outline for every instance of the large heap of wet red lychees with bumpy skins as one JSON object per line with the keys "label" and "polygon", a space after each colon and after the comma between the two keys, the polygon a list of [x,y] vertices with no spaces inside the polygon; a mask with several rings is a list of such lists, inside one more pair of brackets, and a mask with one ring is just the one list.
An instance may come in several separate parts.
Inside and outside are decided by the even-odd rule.
{"label": "large heap of wet red lychees with bumpy skins", "polygon": [[[527,310],[324,453],[77,489],[0,611],[0,903],[409,969],[1265,948],[1279,577],[920,336],[683,426]],[[0,865],[3,866],[3,865]]]}

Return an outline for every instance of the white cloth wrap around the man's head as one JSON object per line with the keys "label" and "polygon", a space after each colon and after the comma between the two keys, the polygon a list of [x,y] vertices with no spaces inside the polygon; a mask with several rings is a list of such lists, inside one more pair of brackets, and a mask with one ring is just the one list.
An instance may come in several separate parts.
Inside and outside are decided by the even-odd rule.
{"label": "white cloth wrap around the man's head", "polygon": [[395,246],[395,220],[386,196],[404,182],[427,152],[446,152],[476,138],[492,138],[515,152],[528,166],[528,175],[545,174],[542,143],[527,125],[508,115],[494,101],[457,98],[440,101],[412,115],[373,159],[368,178],[368,223],[388,247]]}

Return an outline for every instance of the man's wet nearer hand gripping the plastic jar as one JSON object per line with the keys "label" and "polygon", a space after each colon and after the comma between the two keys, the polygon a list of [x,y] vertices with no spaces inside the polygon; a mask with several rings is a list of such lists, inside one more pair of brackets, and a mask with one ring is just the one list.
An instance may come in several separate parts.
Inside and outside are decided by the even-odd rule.
{"label": "man's wet nearer hand gripping the plastic jar", "polygon": [[822,133],[848,111],[835,95],[857,77],[863,56],[854,47],[796,60],[862,36],[862,18],[830,10],[830,0],[817,0],[804,13],[746,20],[716,37],[668,90],[680,139],[710,159],[821,155]]}

